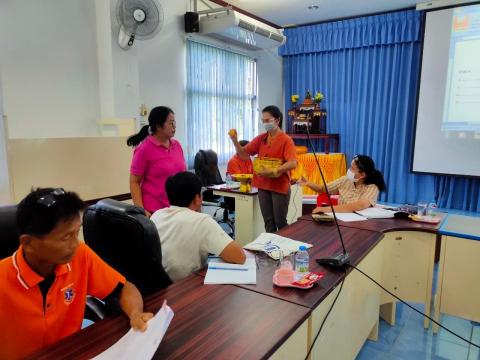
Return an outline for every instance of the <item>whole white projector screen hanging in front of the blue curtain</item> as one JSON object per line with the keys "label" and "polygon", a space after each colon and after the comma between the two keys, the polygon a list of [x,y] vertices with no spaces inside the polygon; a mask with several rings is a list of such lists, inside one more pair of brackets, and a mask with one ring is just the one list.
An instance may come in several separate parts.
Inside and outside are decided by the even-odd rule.
{"label": "whole white projector screen hanging in front of the blue curtain", "polygon": [[480,5],[426,14],[412,171],[480,176]]}

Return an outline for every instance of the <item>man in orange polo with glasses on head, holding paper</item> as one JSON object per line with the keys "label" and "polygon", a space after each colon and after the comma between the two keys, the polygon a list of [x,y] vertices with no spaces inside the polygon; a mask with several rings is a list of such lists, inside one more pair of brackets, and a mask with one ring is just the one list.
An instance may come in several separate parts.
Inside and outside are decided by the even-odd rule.
{"label": "man in orange polo with glasses on head, holding paper", "polygon": [[20,247],[0,261],[0,359],[17,359],[80,330],[87,295],[118,296],[130,325],[144,331],[137,288],[80,243],[83,201],[37,189],[18,205]]}

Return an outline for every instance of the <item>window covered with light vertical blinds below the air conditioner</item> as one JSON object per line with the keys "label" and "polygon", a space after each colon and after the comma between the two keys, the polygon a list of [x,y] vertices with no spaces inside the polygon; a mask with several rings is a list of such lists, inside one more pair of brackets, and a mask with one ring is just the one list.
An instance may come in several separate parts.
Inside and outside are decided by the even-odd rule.
{"label": "window covered with light vertical blinds below the air conditioner", "polygon": [[187,161],[193,168],[198,150],[212,149],[224,164],[234,153],[228,130],[239,140],[258,133],[255,59],[187,41]]}

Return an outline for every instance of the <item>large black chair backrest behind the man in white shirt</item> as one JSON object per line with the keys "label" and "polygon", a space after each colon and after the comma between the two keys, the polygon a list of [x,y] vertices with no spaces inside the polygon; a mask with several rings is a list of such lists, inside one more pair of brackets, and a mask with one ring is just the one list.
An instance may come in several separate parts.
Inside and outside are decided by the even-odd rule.
{"label": "large black chair backrest behind the man in white shirt", "polygon": [[160,238],[142,208],[112,199],[87,207],[85,242],[137,286],[143,296],[171,284],[162,266]]}

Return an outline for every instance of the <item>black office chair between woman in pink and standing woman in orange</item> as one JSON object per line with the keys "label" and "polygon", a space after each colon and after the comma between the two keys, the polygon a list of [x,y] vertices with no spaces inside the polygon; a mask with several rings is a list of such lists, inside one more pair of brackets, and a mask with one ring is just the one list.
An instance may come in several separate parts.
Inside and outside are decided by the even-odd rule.
{"label": "black office chair between woman in pink and standing woman in orange", "polygon": [[[194,167],[195,174],[200,178],[204,187],[225,183],[222,179],[222,175],[220,175],[220,171],[218,170],[218,157],[215,151],[198,151],[195,155]],[[217,220],[217,222],[227,225],[228,229],[230,230],[230,232],[227,231],[227,233],[231,237],[234,237],[235,226],[234,221],[230,219],[230,213],[235,211],[235,200],[213,195],[213,191],[208,189],[202,192],[202,196],[204,206],[216,206],[218,207],[217,211],[223,209],[223,218],[221,220]],[[215,211],[214,217],[216,217],[217,211]]]}

